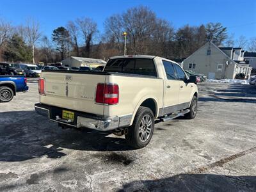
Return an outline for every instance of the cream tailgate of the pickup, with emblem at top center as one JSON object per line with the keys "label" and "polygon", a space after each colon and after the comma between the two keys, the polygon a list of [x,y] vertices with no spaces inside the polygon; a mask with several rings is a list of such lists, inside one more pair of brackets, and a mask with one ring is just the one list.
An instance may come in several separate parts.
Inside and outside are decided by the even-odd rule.
{"label": "cream tailgate of the pickup, with emblem at top center", "polygon": [[104,106],[95,104],[98,83],[105,83],[106,74],[80,72],[42,72],[45,79],[45,95],[42,104],[65,109],[104,115]]}

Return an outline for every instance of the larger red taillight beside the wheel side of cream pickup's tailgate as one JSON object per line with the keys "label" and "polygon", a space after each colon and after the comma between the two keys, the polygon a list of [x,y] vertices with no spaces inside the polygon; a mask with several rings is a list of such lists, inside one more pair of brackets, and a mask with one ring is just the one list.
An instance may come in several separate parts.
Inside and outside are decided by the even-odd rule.
{"label": "larger red taillight beside the wheel side of cream pickup's tailgate", "polygon": [[101,104],[118,104],[119,88],[117,84],[97,84],[95,102]]}

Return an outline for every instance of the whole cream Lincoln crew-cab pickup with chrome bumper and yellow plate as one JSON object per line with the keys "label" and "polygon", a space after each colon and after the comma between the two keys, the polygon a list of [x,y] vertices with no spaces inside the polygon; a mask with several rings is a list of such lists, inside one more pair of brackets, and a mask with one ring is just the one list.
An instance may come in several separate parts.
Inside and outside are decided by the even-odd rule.
{"label": "whole cream Lincoln crew-cab pickup with chrome bumper and yellow plate", "polygon": [[102,72],[49,70],[38,81],[35,110],[61,127],[125,134],[134,148],[152,138],[155,120],[195,118],[198,90],[175,62],[158,56],[115,56]]}

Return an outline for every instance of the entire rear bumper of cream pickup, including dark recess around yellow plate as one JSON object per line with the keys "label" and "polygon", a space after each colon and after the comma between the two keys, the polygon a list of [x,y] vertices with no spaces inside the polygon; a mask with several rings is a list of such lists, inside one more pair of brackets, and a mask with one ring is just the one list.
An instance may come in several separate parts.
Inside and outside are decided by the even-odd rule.
{"label": "entire rear bumper of cream pickup, including dark recess around yellow plate", "polygon": [[111,131],[118,127],[127,127],[129,126],[132,118],[132,115],[104,117],[67,109],[68,111],[75,113],[74,122],[68,122],[68,120],[60,118],[62,110],[63,108],[57,108],[40,103],[35,104],[36,113],[46,116],[54,122],[77,128],[86,127],[97,131]]}

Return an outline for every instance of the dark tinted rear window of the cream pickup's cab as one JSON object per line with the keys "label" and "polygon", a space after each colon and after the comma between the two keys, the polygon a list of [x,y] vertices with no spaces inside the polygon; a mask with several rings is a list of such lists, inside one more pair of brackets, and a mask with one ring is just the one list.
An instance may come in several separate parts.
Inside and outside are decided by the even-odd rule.
{"label": "dark tinted rear window of the cream pickup's cab", "polygon": [[104,71],[157,77],[154,61],[150,59],[122,58],[109,60]]}

